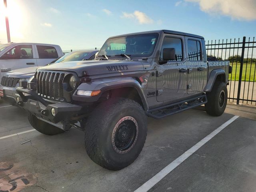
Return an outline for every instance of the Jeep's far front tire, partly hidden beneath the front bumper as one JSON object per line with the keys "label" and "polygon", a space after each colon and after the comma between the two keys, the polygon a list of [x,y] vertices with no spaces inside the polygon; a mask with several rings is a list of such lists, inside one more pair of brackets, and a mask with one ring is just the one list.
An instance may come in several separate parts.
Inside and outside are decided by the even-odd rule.
{"label": "Jeep's far front tire, partly hidden beneath the front bumper", "polygon": [[56,135],[65,132],[64,130],[56,126],[39,120],[38,118],[36,118],[36,116],[32,115],[31,113],[28,113],[28,121],[35,130],[45,135]]}

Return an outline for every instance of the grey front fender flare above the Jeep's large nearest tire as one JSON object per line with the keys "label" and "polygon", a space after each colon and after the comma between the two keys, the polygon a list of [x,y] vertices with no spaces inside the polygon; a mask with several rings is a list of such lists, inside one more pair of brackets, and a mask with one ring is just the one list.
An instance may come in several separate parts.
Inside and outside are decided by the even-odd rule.
{"label": "grey front fender flare above the Jeep's large nearest tire", "polygon": [[91,82],[80,84],[77,90],[88,90],[88,91],[101,90],[100,95],[92,96],[92,97],[80,96],[76,94],[77,92],[76,90],[73,94],[73,100],[78,100],[83,102],[96,102],[100,98],[103,92],[108,90],[113,90],[116,88],[124,88],[124,87],[135,88],[142,100],[144,109],[148,110],[148,102],[144,96],[142,86],[136,79],[132,77],[99,78],[95,80],[92,79]]}

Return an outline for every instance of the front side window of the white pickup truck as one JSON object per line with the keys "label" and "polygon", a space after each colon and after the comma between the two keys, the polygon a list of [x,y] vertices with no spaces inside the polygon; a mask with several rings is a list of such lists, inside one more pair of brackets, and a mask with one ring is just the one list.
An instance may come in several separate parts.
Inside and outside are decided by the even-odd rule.
{"label": "front side window of the white pickup truck", "polygon": [[32,45],[17,45],[6,52],[1,59],[32,59]]}

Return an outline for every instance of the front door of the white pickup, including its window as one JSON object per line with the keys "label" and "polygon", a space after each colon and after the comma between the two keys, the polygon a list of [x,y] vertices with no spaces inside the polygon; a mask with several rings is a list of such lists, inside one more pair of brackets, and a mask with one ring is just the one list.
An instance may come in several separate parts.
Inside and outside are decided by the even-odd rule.
{"label": "front door of the white pickup, including its window", "polygon": [[8,71],[36,66],[35,50],[32,44],[18,44],[0,57],[1,76]]}

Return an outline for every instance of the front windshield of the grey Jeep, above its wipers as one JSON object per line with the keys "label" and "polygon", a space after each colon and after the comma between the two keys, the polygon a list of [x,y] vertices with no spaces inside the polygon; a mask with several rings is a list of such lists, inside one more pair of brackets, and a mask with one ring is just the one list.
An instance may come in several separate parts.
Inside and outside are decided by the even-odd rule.
{"label": "front windshield of the grey Jeep, above its wipers", "polygon": [[148,57],[154,52],[158,34],[141,34],[108,39],[100,49],[97,57]]}

